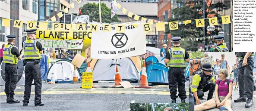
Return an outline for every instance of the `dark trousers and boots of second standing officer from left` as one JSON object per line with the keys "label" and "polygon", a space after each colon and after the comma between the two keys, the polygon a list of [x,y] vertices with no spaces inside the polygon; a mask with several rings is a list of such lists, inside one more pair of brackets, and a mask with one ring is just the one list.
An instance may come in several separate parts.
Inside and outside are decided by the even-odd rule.
{"label": "dark trousers and boots of second standing officer from left", "polygon": [[35,84],[35,105],[41,103],[41,89],[42,89],[42,80],[41,80],[41,69],[40,61],[36,64],[35,62],[26,60],[25,65],[25,91],[24,91],[24,100],[23,102],[28,102],[31,94],[31,86],[34,79]]}

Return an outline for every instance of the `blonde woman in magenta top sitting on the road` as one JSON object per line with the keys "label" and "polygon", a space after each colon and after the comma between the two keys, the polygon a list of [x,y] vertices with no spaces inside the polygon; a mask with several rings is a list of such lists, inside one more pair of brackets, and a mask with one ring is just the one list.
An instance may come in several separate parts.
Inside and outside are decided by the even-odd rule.
{"label": "blonde woman in magenta top sitting on the road", "polygon": [[203,102],[200,105],[195,105],[195,111],[203,111],[211,108],[220,108],[220,111],[228,110],[232,111],[232,80],[226,79],[228,77],[228,70],[221,69],[219,71],[220,79],[216,80],[215,86],[215,99],[210,99],[206,102]]}

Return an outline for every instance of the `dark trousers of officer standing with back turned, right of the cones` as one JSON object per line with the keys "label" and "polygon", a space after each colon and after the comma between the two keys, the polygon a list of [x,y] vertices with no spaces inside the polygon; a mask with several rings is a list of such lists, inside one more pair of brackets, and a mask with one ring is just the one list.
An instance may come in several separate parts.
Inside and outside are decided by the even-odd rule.
{"label": "dark trousers of officer standing with back turned, right of the cones", "polygon": [[[169,68],[170,69],[168,71],[168,80],[171,99],[176,99],[178,96],[180,97],[181,100],[186,99],[184,68]],[[179,91],[178,96],[177,85]]]}

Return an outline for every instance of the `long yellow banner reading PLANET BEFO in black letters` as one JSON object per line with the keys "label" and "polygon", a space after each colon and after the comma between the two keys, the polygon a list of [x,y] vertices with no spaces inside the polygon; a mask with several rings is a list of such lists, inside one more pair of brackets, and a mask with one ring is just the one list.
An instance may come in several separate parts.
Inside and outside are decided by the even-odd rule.
{"label": "long yellow banner reading PLANET BEFO in black letters", "polygon": [[37,39],[50,39],[50,40],[77,40],[88,37],[91,39],[91,31],[50,31],[50,30],[37,30]]}

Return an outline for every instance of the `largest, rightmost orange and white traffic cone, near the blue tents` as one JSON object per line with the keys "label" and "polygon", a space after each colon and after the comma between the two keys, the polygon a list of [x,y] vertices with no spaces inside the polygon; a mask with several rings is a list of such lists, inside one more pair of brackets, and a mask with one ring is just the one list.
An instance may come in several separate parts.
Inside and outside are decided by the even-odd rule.
{"label": "largest, rightmost orange and white traffic cone, near the blue tents", "polygon": [[152,86],[149,86],[148,83],[148,76],[146,72],[146,65],[145,61],[143,60],[143,66],[142,66],[142,74],[140,77],[140,83],[139,86],[135,86],[136,88],[152,88]]}

